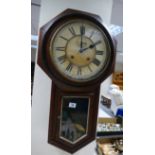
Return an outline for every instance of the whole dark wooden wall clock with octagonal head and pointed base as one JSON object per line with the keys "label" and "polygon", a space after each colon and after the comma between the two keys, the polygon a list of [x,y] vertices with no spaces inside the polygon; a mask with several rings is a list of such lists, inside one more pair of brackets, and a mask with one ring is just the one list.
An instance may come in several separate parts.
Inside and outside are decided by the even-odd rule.
{"label": "whole dark wooden wall clock with octagonal head and pointed base", "polygon": [[67,9],[40,29],[38,64],[52,79],[48,142],[73,153],[95,139],[113,39],[97,15]]}

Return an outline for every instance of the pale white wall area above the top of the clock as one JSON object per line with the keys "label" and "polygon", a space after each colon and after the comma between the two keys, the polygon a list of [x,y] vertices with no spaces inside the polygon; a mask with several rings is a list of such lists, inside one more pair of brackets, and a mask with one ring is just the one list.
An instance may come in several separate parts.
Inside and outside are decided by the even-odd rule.
{"label": "pale white wall area above the top of the clock", "polygon": [[98,14],[106,24],[110,24],[112,0],[42,0],[40,26],[66,8]]}

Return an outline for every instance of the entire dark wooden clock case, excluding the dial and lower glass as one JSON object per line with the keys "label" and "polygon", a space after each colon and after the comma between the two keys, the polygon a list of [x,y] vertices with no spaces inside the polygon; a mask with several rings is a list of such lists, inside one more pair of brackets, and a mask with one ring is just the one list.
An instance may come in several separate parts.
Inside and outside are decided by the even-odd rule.
{"label": "entire dark wooden clock case, excluding the dial and lower glass", "polygon": [[[50,58],[50,40],[57,28],[72,19],[86,19],[97,24],[100,29],[106,34],[108,44],[110,45],[109,59],[106,62],[103,70],[88,81],[74,81],[62,76],[54,66]],[[50,116],[48,129],[48,143],[64,149],[70,153],[74,153],[81,147],[84,147],[96,137],[96,122],[98,114],[98,103],[100,84],[103,82],[114,70],[115,64],[115,42],[106,27],[102,24],[101,18],[98,15],[87,13],[79,10],[67,9],[40,29],[39,33],[39,47],[38,47],[38,65],[43,71],[52,79],[52,91],[50,101]],[[64,141],[59,136],[60,128],[60,112],[63,96],[88,96],[90,98],[89,118],[88,118],[88,133],[80,141],[71,144]]]}

